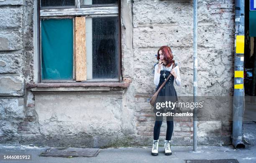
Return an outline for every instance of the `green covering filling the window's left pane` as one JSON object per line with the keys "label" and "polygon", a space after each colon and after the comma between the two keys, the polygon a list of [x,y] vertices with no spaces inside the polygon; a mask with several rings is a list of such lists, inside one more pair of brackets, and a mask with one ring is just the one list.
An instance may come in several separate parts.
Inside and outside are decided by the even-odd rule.
{"label": "green covering filling the window's left pane", "polygon": [[41,79],[73,79],[73,20],[41,20]]}

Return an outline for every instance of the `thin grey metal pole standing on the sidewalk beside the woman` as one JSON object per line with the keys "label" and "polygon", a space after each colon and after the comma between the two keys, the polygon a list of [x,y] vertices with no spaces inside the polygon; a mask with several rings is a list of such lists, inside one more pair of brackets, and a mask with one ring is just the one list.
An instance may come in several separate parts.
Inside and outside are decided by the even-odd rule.
{"label": "thin grey metal pole standing on the sidewalk beside the woman", "polygon": [[[197,0],[194,0],[194,76],[193,76],[193,101],[197,102]],[[197,151],[197,115],[193,110],[193,151]]]}

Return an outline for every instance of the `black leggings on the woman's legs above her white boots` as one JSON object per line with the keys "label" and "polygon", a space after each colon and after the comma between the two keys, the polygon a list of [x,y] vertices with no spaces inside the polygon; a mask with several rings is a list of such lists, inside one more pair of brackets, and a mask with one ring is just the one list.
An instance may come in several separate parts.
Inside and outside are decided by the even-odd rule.
{"label": "black leggings on the woman's legs above her white boots", "polygon": [[[154,140],[158,140],[160,136],[160,128],[163,123],[163,117],[157,117],[159,120],[161,118],[161,121],[155,121],[154,126]],[[169,119],[168,116],[166,118],[167,123],[167,129],[166,129],[166,139],[167,141],[170,141],[172,138],[172,132],[173,132],[173,119]]]}

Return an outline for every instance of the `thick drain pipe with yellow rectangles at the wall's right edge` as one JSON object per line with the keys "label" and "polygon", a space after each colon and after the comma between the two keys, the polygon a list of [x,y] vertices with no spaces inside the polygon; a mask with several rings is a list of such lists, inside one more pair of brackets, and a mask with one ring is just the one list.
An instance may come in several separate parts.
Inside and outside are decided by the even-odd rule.
{"label": "thick drain pipe with yellow rectangles at the wall's right edge", "polygon": [[235,65],[233,95],[233,133],[232,144],[235,148],[245,148],[243,136],[243,60],[244,60],[244,0],[235,0]]}

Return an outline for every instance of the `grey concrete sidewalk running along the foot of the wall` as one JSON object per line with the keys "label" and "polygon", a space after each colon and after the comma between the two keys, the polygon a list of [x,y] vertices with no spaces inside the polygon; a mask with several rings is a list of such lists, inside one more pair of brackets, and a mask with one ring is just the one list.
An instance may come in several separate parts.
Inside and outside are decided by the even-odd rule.
{"label": "grey concrete sidewalk running along the foot of the wall", "polygon": [[[244,124],[246,148],[236,150],[233,146],[198,146],[198,153],[191,152],[193,147],[172,146],[172,155],[165,156],[164,148],[159,147],[159,155],[151,156],[151,147],[141,148],[107,148],[101,149],[97,157],[40,157],[45,148],[30,146],[0,145],[2,154],[31,154],[28,163],[185,163],[193,159],[237,159],[239,163],[256,163],[256,124]],[[163,142],[162,142],[163,143]],[[1,163],[17,163],[20,161],[1,161]],[[21,161],[22,162],[22,161]],[[23,161],[25,162],[25,161]]]}

